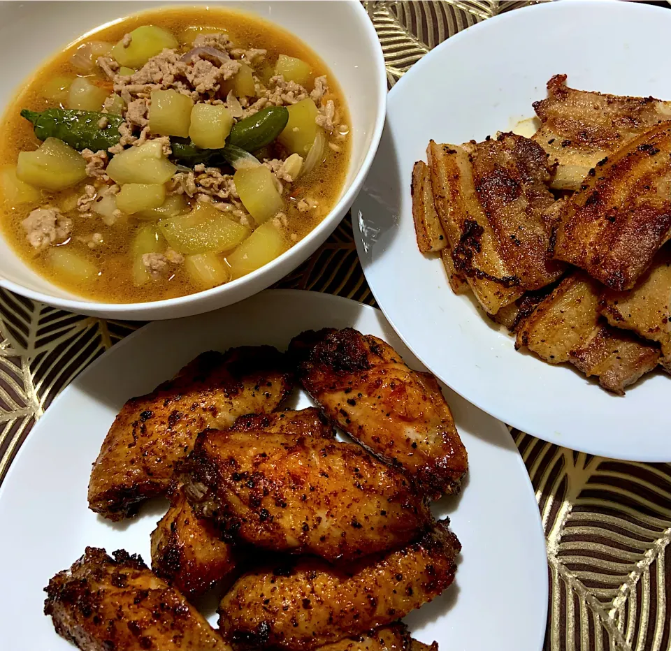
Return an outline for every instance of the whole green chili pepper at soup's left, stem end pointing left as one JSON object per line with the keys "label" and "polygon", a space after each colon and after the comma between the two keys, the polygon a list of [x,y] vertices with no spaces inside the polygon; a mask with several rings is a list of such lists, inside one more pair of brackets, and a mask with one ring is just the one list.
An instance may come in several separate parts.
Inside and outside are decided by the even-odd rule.
{"label": "whole green chili pepper at soup's left, stem end pointing left", "polygon": [[[58,138],[78,152],[82,149],[98,152],[113,147],[121,138],[119,126],[124,122],[120,115],[63,108],[48,108],[42,112],[24,108],[21,116],[34,124],[35,135],[40,140]],[[101,129],[98,124],[103,117],[107,126]]]}

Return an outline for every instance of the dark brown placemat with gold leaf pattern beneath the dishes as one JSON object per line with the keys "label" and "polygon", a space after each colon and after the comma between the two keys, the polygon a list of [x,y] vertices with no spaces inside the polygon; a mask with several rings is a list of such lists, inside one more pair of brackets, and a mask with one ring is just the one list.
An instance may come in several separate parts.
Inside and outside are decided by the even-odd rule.
{"label": "dark brown placemat with gold leaf pattern beneath the dishes", "polygon": [[[390,87],[445,38],[527,4],[364,2],[384,48]],[[349,217],[278,286],[375,305]],[[0,481],[59,390],[137,327],[69,314],[0,290]],[[591,457],[517,430],[512,436],[531,476],[547,536],[545,650],[670,651],[671,465]],[[521,571],[510,568],[511,581]]]}

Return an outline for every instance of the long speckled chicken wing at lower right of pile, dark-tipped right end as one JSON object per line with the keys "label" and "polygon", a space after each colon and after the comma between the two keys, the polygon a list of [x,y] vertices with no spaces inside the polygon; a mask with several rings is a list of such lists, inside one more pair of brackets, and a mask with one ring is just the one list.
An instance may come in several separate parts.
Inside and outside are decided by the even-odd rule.
{"label": "long speckled chicken wing at lower right of pile, dark-tipped right end", "polygon": [[224,638],[241,648],[306,651],[386,626],[454,580],[461,545],[447,522],[419,541],[345,569],[317,559],[241,576],[219,604]]}

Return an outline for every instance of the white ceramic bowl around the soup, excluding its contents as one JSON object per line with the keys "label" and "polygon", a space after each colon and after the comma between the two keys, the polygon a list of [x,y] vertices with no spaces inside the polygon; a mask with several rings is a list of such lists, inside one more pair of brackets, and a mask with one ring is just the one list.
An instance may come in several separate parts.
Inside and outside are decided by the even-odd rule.
{"label": "white ceramic bowl around the soup, excluding its contents", "polygon": [[[0,85],[4,109],[45,59],[101,24],[170,2],[0,2],[0,51],[11,61]],[[73,295],[31,270],[0,238],[0,286],[28,298],[110,319],[171,319],[231,305],[270,286],[314,253],[345,215],[373,161],[387,106],[380,42],[357,0],[189,2],[260,15],[296,34],[329,66],[342,88],[352,126],[352,157],[340,200],[315,230],[273,262],[243,278],[197,294],[144,303],[103,303]],[[29,43],[29,45],[27,45]],[[20,56],[17,56],[20,53]]]}

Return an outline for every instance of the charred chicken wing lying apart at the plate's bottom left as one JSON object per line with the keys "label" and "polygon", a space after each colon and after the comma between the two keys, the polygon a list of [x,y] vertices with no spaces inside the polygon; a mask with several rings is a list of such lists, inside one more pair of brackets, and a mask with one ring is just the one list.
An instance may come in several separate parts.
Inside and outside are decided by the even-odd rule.
{"label": "charred chicken wing lying apart at the plate's bottom left", "polygon": [[82,651],[231,651],[205,618],[142,559],[87,547],[45,587],[44,613]]}

